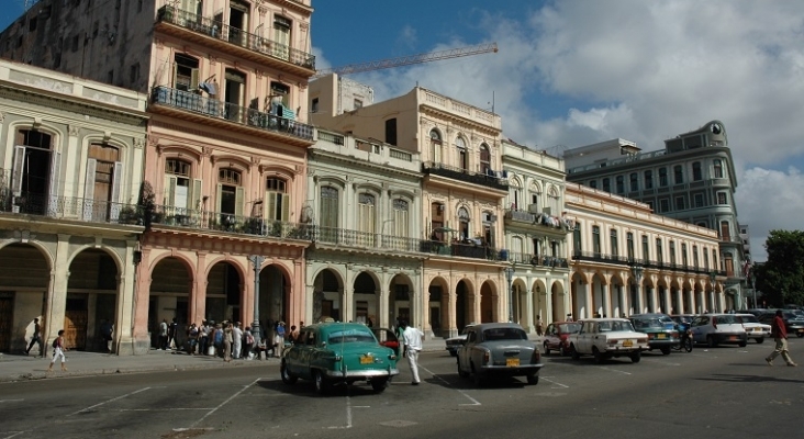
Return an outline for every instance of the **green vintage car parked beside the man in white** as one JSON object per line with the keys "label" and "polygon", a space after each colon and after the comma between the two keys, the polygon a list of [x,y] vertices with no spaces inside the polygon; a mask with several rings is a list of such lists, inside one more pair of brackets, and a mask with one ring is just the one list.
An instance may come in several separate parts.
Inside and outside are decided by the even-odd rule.
{"label": "green vintage car parked beside the man in white", "polygon": [[371,328],[359,323],[303,327],[298,341],[286,349],[279,371],[286,384],[312,380],[320,394],[356,381],[368,382],[379,393],[399,374],[397,352],[381,346]]}

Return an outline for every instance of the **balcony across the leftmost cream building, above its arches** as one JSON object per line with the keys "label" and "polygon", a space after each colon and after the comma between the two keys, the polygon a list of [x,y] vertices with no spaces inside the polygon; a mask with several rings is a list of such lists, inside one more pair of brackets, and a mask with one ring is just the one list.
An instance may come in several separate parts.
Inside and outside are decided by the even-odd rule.
{"label": "balcony across the leftmost cream building, above its arches", "polygon": [[7,190],[0,190],[0,212],[81,223],[142,225],[138,206],[134,204],[34,193],[11,196]]}

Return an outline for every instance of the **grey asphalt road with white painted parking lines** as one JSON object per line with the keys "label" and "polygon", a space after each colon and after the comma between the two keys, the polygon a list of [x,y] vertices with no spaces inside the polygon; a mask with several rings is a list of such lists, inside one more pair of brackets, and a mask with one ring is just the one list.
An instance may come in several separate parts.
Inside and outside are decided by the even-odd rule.
{"label": "grey asphalt road with white painted parking lines", "polygon": [[[421,356],[382,394],[369,385],[319,396],[276,364],[0,384],[4,438],[761,438],[804,428],[804,367],[772,345],[645,353],[639,363],[544,359],[538,385],[476,387],[444,352]],[[791,339],[804,362],[804,339]]]}

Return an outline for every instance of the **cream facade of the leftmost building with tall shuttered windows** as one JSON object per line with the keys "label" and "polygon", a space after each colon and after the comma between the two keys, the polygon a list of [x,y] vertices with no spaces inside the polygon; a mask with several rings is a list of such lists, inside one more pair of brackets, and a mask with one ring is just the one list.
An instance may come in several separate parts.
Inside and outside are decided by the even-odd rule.
{"label": "cream facade of the leftmost building with tall shuttered windows", "polygon": [[[147,97],[0,60],[0,352],[132,352]],[[32,352],[41,353],[41,352]]]}

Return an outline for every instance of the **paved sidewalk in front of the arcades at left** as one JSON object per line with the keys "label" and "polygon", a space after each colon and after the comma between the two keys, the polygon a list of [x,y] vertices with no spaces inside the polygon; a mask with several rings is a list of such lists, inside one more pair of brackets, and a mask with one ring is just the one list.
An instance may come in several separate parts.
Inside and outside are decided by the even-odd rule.
{"label": "paved sidewalk in front of the arcades at left", "polygon": [[[444,339],[426,340],[424,351],[443,351],[446,353]],[[51,349],[48,349],[49,351]],[[193,370],[211,368],[238,368],[279,364],[278,358],[266,360],[232,360],[224,362],[217,357],[188,356],[185,352],[152,349],[145,356],[120,357],[112,353],[68,351],[67,372],[59,365],[47,373],[51,357],[38,358],[24,354],[0,353],[0,382],[42,380],[62,376],[92,376],[115,373],[142,373],[170,370]]]}

